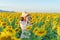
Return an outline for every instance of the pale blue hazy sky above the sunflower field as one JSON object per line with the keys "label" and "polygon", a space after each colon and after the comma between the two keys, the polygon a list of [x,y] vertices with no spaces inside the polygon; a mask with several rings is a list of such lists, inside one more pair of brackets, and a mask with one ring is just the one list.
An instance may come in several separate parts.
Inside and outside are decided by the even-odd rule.
{"label": "pale blue hazy sky above the sunflower field", "polygon": [[60,0],[0,0],[0,9],[8,11],[60,12]]}

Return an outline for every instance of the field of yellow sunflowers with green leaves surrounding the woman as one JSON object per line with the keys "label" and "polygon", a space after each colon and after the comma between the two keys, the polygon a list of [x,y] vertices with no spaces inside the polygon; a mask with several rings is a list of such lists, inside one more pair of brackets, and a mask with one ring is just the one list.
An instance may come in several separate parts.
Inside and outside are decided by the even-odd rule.
{"label": "field of yellow sunflowers with green leaves surrounding the woman", "polygon": [[[0,12],[0,40],[60,40],[59,13],[31,13],[26,36],[21,39],[21,12]],[[30,33],[30,34],[29,34]]]}

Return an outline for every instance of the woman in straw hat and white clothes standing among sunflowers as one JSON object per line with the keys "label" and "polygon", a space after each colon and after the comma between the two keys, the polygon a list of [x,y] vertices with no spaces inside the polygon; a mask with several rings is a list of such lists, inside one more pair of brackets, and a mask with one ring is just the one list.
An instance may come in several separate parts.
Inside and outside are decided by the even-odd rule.
{"label": "woman in straw hat and white clothes standing among sunflowers", "polygon": [[27,25],[30,25],[30,17],[29,14],[22,13],[22,16],[20,17],[20,26],[22,29],[22,34],[21,34],[21,38],[26,38],[26,36],[24,35],[24,32],[26,31],[25,28]]}

